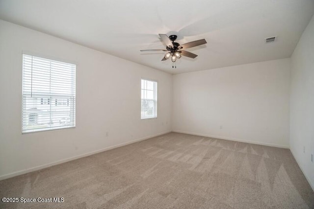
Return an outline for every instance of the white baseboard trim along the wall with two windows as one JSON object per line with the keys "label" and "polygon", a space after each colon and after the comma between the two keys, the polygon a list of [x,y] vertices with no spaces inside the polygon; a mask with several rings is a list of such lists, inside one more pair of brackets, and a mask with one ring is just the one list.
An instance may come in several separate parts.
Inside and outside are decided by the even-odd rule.
{"label": "white baseboard trim along the wall with two windows", "polygon": [[26,173],[30,173],[30,172],[33,172],[33,171],[37,171],[37,170],[40,170],[40,169],[43,169],[43,168],[48,168],[48,167],[51,167],[53,165],[58,165],[58,164],[61,164],[61,163],[64,163],[64,162],[68,162],[68,161],[71,161],[71,160],[75,160],[75,159],[78,159],[78,158],[81,158],[81,157],[87,157],[87,156],[91,156],[91,155],[94,155],[94,154],[97,154],[97,153],[101,153],[101,152],[104,152],[104,151],[107,151],[107,150],[112,150],[114,148],[122,147],[122,146],[125,146],[125,145],[128,145],[128,144],[132,144],[132,143],[135,143],[135,142],[138,142],[138,141],[143,141],[143,140],[146,140],[146,139],[149,139],[149,138],[152,138],[152,137],[156,137],[156,136],[159,136],[159,135],[162,135],[162,134],[170,133],[170,132],[172,132],[172,131],[160,132],[160,133],[157,133],[157,134],[154,134],[154,135],[146,136],[146,137],[143,137],[143,138],[140,138],[140,139],[135,139],[133,141],[124,142],[124,143],[117,144],[117,145],[113,145],[113,146],[110,146],[110,147],[106,147],[104,149],[100,149],[100,150],[96,150],[96,151],[93,151],[93,152],[81,154],[81,155],[78,155],[78,156],[75,156],[75,157],[69,157],[69,158],[57,160],[57,161],[54,161],[54,162],[51,162],[51,163],[48,163],[48,164],[45,164],[45,165],[39,165],[39,166],[35,166],[35,167],[32,167],[32,168],[27,168],[27,169],[24,169],[24,170],[16,171],[16,172],[13,172],[13,173],[10,173],[10,174],[5,174],[5,175],[0,176],[0,181],[4,180],[4,179],[9,179],[9,178],[12,178],[12,177],[15,177],[15,176],[23,175],[23,174],[26,174]]}

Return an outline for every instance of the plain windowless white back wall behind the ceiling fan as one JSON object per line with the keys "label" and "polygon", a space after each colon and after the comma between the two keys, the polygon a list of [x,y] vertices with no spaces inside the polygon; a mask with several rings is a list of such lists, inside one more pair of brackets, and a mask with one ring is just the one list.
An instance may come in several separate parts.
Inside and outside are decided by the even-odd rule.
{"label": "plain windowless white back wall behind the ceiling fan", "polygon": [[175,75],[172,128],[288,147],[289,79],[289,58]]}

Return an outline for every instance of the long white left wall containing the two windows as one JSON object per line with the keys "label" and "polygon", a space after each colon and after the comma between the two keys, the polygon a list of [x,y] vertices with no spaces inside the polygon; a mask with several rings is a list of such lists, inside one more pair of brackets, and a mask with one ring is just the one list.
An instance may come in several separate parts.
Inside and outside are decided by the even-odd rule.
{"label": "long white left wall containing the two windows", "polygon": [[[76,128],[21,133],[22,51],[77,64]],[[157,119],[140,120],[141,77],[158,80]],[[0,20],[0,101],[4,179],[171,131],[172,76]]]}

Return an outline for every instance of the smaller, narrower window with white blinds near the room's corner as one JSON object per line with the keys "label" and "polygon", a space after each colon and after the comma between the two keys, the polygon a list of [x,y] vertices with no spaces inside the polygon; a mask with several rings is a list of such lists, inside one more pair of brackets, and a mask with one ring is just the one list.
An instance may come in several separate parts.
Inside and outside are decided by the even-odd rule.
{"label": "smaller, narrower window with white blinds near the room's corner", "polygon": [[141,119],[157,118],[157,82],[142,79]]}

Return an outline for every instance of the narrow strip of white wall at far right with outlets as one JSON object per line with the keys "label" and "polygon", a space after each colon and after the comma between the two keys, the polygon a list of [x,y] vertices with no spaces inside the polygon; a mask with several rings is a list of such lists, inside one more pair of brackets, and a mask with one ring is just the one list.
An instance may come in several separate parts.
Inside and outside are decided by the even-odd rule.
{"label": "narrow strip of white wall at far right with outlets", "polygon": [[291,56],[291,65],[290,150],[314,189],[314,17]]}

